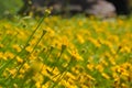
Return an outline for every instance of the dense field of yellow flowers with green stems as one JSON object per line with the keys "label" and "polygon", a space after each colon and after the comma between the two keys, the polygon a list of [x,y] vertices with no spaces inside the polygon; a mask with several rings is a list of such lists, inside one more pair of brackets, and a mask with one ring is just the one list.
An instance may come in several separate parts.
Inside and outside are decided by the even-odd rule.
{"label": "dense field of yellow flowers with green stems", "polygon": [[42,20],[0,21],[0,88],[132,87],[132,18]]}

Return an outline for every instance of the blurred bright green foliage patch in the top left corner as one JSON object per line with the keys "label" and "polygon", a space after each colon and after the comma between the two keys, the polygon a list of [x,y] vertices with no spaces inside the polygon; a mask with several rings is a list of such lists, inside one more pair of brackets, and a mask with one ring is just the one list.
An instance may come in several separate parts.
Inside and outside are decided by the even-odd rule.
{"label": "blurred bright green foliage patch in the top left corner", "polygon": [[22,7],[22,0],[0,0],[0,18],[15,14]]}

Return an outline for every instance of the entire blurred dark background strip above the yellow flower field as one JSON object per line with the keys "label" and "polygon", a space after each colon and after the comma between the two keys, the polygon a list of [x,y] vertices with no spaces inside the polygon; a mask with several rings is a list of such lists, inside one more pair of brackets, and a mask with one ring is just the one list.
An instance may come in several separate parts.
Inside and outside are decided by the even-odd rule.
{"label": "entire blurred dark background strip above the yellow flower field", "polygon": [[128,15],[132,11],[132,0],[0,0],[0,18],[43,15],[47,8],[52,9],[52,14]]}

